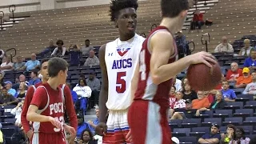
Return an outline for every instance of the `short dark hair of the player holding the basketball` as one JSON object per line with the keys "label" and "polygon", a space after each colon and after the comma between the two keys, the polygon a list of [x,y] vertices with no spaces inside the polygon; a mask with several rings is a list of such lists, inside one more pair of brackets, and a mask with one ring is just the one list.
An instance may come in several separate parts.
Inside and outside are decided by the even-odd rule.
{"label": "short dark hair of the player holding the basketball", "polygon": [[174,18],[189,8],[188,0],[161,0],[162,17]]}

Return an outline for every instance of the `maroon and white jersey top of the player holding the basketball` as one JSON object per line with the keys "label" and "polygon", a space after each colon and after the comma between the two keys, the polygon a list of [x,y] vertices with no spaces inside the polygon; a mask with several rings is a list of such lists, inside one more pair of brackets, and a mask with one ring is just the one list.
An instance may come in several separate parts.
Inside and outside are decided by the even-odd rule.
{"label": "maroon and white jersey top of the player holding the basketball", "polygon": [[[150,35],[142,44],[142,50],[139,55],[139,80],[138,80],[138,89],[135,93],[134,100],[142,99],[158,103],[162,107],[169,107],[169,91],[172,84],[172,79],[162,82],[159,85],[155,85],[150,76],[150,58],[151,54],[149,51],[149,40],[156,34],[158,31],[169,31],[165,26],[158,26],[151,31]],[[174,40],[174,43],[170,43],[174,47],[174,54],[170,56],[169,62],[175,62],[178,57],[178,50]],[[159,55],[161,57],[161,55]],[[168,73],[168,71],[166,71]]]}

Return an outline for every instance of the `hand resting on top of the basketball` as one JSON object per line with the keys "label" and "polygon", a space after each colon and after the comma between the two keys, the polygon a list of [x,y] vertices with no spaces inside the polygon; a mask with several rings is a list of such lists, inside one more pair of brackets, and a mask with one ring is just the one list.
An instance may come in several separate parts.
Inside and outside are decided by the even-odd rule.
{"label": "hand resting on top of the basketball", "polygon": [[214,55],[201,51],[196,54],[189,55],[191,64],[204,63],[206,66],[212,67],[211,63],[218,63]]}

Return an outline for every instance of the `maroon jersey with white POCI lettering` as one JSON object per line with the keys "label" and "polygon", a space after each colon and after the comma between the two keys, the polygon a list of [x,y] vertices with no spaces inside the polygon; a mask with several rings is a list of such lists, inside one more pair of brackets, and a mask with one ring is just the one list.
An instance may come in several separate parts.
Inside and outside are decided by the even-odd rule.
{"label": "maroon jersey with white POCI lettering", "polygon": [[[30,104],[38,106],[38,114],[57,118],[63,124],[63,93],[60,87],[58,90],[54,90],[48,83],[38,86]],[[57,134],[63,131],[57,129],[50,122],[33,122],[33,129],[34,132],[45,134]]]}

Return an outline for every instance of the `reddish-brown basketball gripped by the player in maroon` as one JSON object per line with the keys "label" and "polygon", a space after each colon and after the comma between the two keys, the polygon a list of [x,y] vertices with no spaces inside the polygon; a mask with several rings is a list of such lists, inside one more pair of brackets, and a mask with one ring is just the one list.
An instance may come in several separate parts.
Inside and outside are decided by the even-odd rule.
{"label": "reddish-brown basketball gripped by the player in maroon", "polygon": [[211,63],[210,68],[203,63],[190,65],[187,71],[187,78],[194,90],[214,90],[222,79],[220,66]]}

